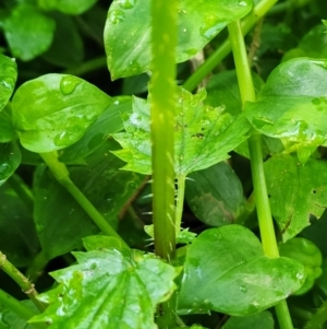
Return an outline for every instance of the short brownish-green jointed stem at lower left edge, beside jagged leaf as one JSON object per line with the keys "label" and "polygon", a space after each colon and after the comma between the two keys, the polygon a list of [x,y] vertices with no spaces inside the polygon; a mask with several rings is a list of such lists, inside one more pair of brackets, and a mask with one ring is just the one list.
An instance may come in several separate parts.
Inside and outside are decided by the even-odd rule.
{"label": "short brownish-green jointed stem at lower left edge, beside jagged leaf", "polygon": [[34,287],[34,284],[26,277],[24,277],[23,273],[21,273],[1,251],[0,268],[22,287],[23,292],[31,298],[31,301],[40,312],[44,312],[47,308],[44,303],[37,299],[37,291]]}

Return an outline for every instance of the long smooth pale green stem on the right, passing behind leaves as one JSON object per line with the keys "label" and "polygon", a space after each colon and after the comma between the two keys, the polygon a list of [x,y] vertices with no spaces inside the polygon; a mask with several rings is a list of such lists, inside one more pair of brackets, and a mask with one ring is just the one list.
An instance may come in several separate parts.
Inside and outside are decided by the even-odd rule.
{"label": "long smooth pale green stem on the right, passing behind leaves", "polygon": [[[244,105],[247,101],[255,101],[255,92],[240,22],[230,23],[228,30],[233,49],[242,104]],[[250,138],[249,150],[263,248],[267,257],[277,258],[279,257],[279,252],[267,193],[259,134],[254,133]],[[281,301],[275,308],[280,328],[293,329],[287,302]]]}

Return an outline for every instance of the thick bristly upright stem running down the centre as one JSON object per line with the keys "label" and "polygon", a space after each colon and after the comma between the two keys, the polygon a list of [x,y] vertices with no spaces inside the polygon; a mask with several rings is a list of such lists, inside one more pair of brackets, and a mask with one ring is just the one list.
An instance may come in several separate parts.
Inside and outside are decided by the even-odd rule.
{"label": "thick bristly upright stem running down the centre", "polygon": [[[153,153],[153,212],[156,254],[168,261],[175,252],[174,113],[177,0],[152,0],[150,129]],[[160,329],[175,327],[175,295],[159,305]]]}

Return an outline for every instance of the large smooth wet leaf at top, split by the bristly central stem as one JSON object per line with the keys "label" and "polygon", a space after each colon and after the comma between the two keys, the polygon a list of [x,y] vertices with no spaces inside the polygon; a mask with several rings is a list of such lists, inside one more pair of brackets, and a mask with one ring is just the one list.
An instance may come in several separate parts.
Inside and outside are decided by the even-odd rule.
{"label": "large smooth wet leaf at top, split by the bristly central stem", "polygon": [[[181,0],[178,12],[177,62],[204,48],[229,22],[243,17],[252,0]],[[112,79],[148,71],[150,62],[150,1],[114,0],[105,27],[105,45]]]}

